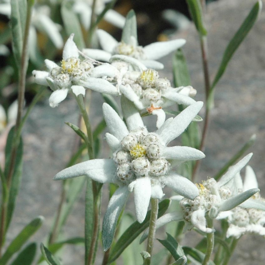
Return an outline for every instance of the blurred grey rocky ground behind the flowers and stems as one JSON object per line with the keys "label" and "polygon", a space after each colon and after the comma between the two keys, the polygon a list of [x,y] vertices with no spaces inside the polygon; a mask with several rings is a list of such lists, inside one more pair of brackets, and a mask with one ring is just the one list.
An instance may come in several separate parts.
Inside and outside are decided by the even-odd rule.
{"label": "blurred grey rocky ground behind the flowers and stems", "polygon": [[[210,77],[214,75],[223,51],[251,9],[253,0],[219,0],[207,6],[206,28],[208,30]],[[265,3],[265,1],[263,1]],[[253,133],[257,140],[250,149],[254,152],[249,165],[256,172],[265,196],[265,15],[264,11],[244,40],[239,50],[216,87],[215,108],[212,111],[210,132],[206,144],[206,158],[202,161],[199,178],[214,174],[248,141]],[[176,34],[185,38],[184,48],[189,65],[192,84],[197,89],[197,100],[204,100],[203,74],[200,46],[195,27]],[[172,79],[171,55],[161,60],[165,70],[161,75]],[[102,116],[100,95],[93,93],[91,113],[93,126]],[[204,117],[203,111],[200,115]],[[58,108],[49,107],[47,100],[39,103],[32,111],[24,130],[24,171],[10,233],[13,238],[22,227],[37,215],[43,215],[45,222],[35,235],[38,242],[44,242],[51,227],[59,202],[61,183],[52,177],[64,168],[70,157],[74,134],[64,122],[77,124],[78,112],[72,99],[67,99]],[[103,155],[101,157],[107,157]],[[108,195],[105,194],[104,197]],[[106,202],[103,208],[106,207]],[[80,196],[65,227],[67,238],[82,236],[84,224],[84,194]],[[164,234],[162,233],[162,237]],[[188,235],[188,239],[194,234]],[[264,264],[265,239],[257,235],[243,236],[230,264]],[[82,264],[83,248],[67,247],[64,264]],[[99,262],[100,262],[99,258]],[[100,264],[100,263],[97,263]]]}

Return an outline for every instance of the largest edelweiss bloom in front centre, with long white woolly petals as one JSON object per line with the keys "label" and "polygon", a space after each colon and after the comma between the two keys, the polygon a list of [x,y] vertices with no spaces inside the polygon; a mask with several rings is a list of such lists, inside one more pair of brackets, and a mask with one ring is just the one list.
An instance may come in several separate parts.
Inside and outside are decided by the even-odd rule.
{"label": "largest edelweiss bloom in front centre, with long white woolly petals", "polygon": [[112,242],[118,216],[130,192],[134,193],[139,223],[146,217],[150,198],[161,199],[165,185],[190,200],[199,195],[198,188],[174,169],[180,162],[204,158],[204,153],[192,147],[167,147],[167,144],[184,132],[202,105],[202,102],[196,102],[174,119],[166,120],[157,131],[148,132],[139,112],[128,99],[122,97],[127,126],[113,108],[104,103],[103,114],[110,132],[106,133],[106,140],[113,158],[89,160],[55,175],[55,180],[86,175],[94,181],[119,186],[109,201],[103,220],[105,250]]}

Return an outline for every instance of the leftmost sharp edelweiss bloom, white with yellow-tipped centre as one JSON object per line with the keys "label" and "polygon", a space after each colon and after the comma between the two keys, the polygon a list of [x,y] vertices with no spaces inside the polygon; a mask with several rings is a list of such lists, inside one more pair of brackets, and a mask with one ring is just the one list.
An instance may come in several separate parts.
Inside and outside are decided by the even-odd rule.
{"label": "leftmost sharp edelweiss bloom, white with yellow-tipped centre", "polygon": [[37,84],[50,86],[54,91],[49,98],[50,106],[53,108],[66,98],[69,91],[76,96],[79,94],[84,96],[85,88],[100,93],[118,94],[118,88],[108,81],[115,79],[119,74],[118,70],[109,64],[94,67],[94,60],[80,59],[73,37],[74,34],[71,34],[65,43],[60,66],[46,59],[49,71],[32,72]]}

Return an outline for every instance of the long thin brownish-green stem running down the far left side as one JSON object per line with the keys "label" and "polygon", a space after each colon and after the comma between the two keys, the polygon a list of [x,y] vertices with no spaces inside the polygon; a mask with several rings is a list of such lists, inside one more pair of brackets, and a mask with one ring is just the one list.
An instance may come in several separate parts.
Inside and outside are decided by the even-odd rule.
{"label": "long thin brownish-green stem running down the far left side", "polygon": [[9,200],[9,189],[12,183],[12,176],[14,174],[15,169],[15,161],[17,157],[17,148],[19,145],[19,139],[21,134],[21,120],[22,120],[22,113],[24,107],[24,98],[25,98],[25,84],[26,84],[26,71],[28,66],[28,36],[29,36],[29,28],[31,24],[31,8],[33,6],[33,1],[29,1],[27,3],[27,16],[26,16],[26,25],[24,31],[24,39],[23,39],[23,46],[22,46],[22,55],[21,55],[21,64],[19,68],[19,85],[18,85],[18,108],[17,108],[17,120],[15,125],[15,132],[14,132],[14,141],[12,144],[11,149],[11,157],[10,157],[10,167],[8,170],[7,178],[7,187],[6,192],[3,192],[2,205],[1,205],[1,224],[0,224],[0,257],[1,257],[1,250],[5,239],[6,234],[6,217],[7,217],[7,204]]}

